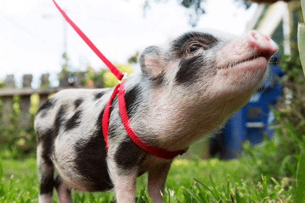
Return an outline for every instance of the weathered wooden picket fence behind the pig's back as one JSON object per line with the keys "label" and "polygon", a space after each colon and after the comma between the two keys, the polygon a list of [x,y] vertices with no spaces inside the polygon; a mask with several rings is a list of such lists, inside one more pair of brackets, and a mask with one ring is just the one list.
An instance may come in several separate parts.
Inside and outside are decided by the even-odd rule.
{"label": "weathered wooden picket fence behind the pig's back", "polygon": [[9,126],[12,122],[13,113],[13,97],[14,95],[20,96],[20,113],[18,117],[18,128],[22,129],[31,125],[31,95],[37,93],[39,95],[39,106],[41,106],[52,93],[66,88],[89,88],[84,86],[83,79],[85,74],[78,72],[75,74],[73,83],[69,83],[69,73],[60,73],[59,86],[51,88],[49,86],[49,74],[43,74],[41,76],[41,88],[33,89],[31,86],[33,76],[23,75],[22,88],[15,88],[14,75],[8,75],[5,80],[5,86],[0,88],[0,98],[2,99],[2,112],[0,112],[0,123],[5,126]]}

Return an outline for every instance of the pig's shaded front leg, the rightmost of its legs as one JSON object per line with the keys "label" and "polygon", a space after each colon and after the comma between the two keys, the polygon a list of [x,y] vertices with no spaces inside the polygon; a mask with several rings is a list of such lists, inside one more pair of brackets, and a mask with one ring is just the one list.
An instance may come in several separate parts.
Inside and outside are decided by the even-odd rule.
{"label": "pig's shaded front leg, the rightmost of its legs", "polygon": [[154,203],[164,203],[161,192],[164,193],[166,177],[168,175],[172,160],[148,170],[148,194]]}

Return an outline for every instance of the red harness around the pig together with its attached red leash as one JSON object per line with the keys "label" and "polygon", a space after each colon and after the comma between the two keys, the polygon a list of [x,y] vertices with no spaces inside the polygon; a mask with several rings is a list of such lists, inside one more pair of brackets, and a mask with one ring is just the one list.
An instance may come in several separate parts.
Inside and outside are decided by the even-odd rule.
{"label": "red harness around the pig together with its attached red leash", "polygon": [[[73,29],[78,33],[78,35],[85,41],[85,43],[100,57],[100,59],[109,67],[110,71],[115,75],[115,77],[120,81],[124,74],[119,71],[99,50],[98,48],[84,35],[84,33],[77,27],[76,24],[72,22],[72,20],[66,15],[66,13],[56,4],[54,0],[52,0],[57,9],[60,13],[64,16],[64,18],[67,20],[67,22],[70,23],[70,25],[73,27]],[[104,110],[103,119],[102,119],[102,129],[103,129],[103,136],[105,139],[106,147],[108,149],[108,124],[109,124],[109,111],[111,106],[111,101],[115,97],[115,95],[118,93],[118,108],[119,108],[119,114],[121,117],[121,120],[123,122],[123,125],[131,138],[131,140],[139,146],[141,149],[146,151],[149,154],[152,154],[154,156],[157,156],[159,158],[163,159],[172,159],[176,157],[177,155],[184,154],[187,150],[178,150],[174,152],[166,151],[154,146],[149,145],[148,143],[144,142],[140,137],[137,136],[135,133],[128,114],[126,110],[126,103],[125,103],[125,83],[126,81],[123,81],[122,83],[119,83],[115,86],[111,97],[106,105],[106,108]]]}

